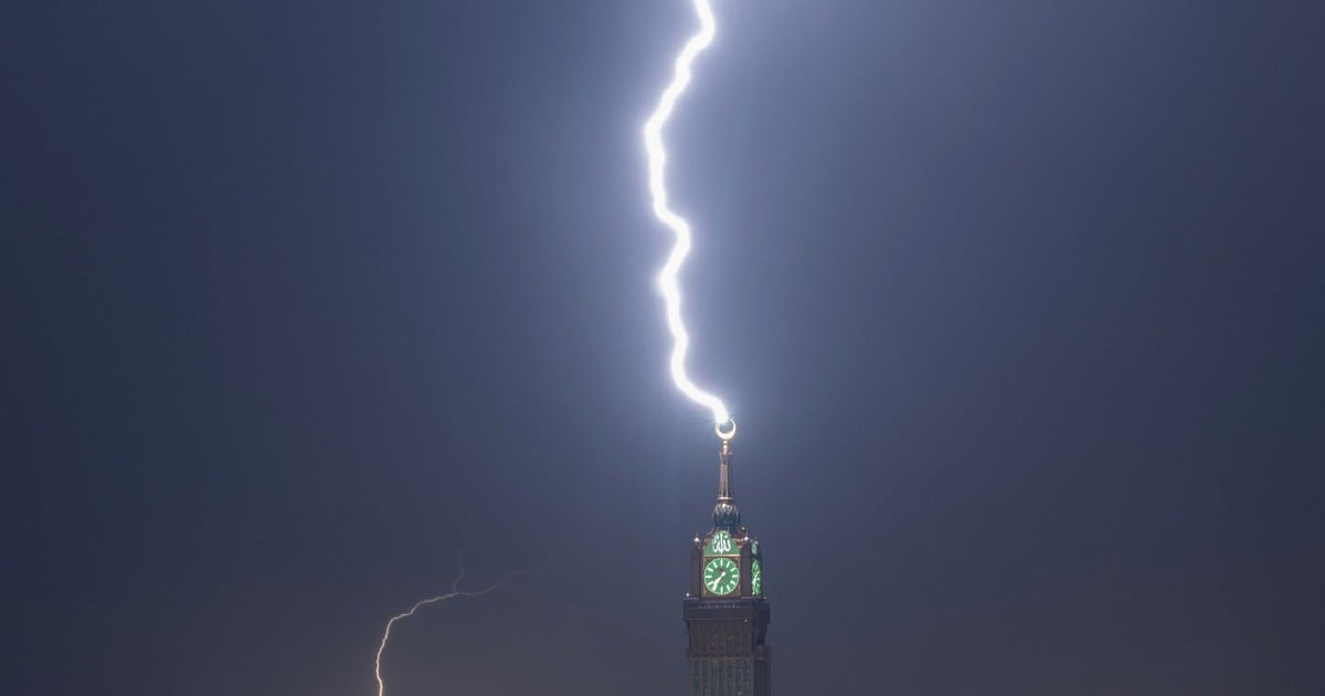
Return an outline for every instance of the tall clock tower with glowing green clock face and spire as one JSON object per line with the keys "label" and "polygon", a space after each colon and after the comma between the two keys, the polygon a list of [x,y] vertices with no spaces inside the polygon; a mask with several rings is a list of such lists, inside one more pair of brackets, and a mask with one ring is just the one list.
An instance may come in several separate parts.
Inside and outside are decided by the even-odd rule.
{"label": "tall clock tower with glowing green clock face and spire", "polygon": [[[722,432],[718,434],[723,436]],[[734,432],[733,432],[734,435]],[[768,696],[768,601],[763,595],[763,551],[741,524],[731,483],[731,440],[718,457],[718,504],[713,528],[694,537],[690,591],[685,595],[685,651],[692,696]]]}

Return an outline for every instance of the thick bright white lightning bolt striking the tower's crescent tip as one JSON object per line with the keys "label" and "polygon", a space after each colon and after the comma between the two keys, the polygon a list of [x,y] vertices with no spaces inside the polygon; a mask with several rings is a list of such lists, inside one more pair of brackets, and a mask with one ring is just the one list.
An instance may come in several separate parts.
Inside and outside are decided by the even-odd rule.
{"label": "thick bright white lightning bolt striking the tower's crescent tip", "polygon": [[[700,16],[700,30],[681,49],[681,54],[676,58],[672,82],[662,90],[657,109],[644,122],[644,148],[649,158],[649,194],[653,196],[653,215],[676,236],[672,253],[668,255],[666,264],[662,265],[657,277],[659,290],[666,304],[666,325],[672,331],[672,380],[690,400],[709,408],[713,412],[713,423],[722,427],[731,422],[727,407],[722,399],[697,387],[685,371],[685,354],[690,349],[690,334],[685,330],[685,322],[681,319],[681,288],[677,284],[677,274],[681,272],[681,264],[685,262],[686,255],[690,253],[690,223],[686,223],[684,217],[668,207],[664,179],[666,147],[662,145],[662,126],[672,118],[676,101],[690,84],[690,65],[704,49],[713,44],[713,36],[717,30],[709,0],[694,0],[694,12]],[[731,427],[734,434],[735,424],[733,423]]]}

